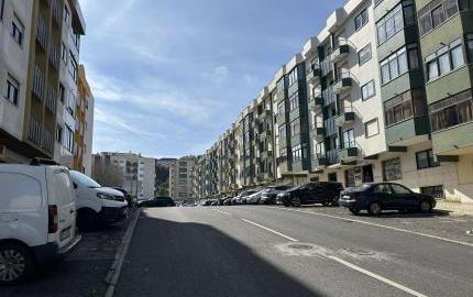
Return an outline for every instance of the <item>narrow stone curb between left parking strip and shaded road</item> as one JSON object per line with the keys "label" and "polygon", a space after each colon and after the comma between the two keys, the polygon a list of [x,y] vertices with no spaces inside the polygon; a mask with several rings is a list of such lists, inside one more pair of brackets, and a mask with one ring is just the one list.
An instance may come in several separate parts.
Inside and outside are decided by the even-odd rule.
{"label": "narrow stone curb between left parking strip and shaded road", "polygon": [[138,221],[138,218],[140,217],[140,213],[141,213],[141,208],[136,210],[132,221],[127,228],[127,232],[124,233],[122,239],[122,244],[118,249],[113,263],[110,266],[109,272],[107,273],[105,282],[108,284],[108,287],[107,287],[105,297],[113,297],[117,283],[120,278],[121,267],[123,265],[123,261],[127,255],[128,248],[130,246],[131,238],[133,237],[133,231],[134,231],[134,228],[136,227],[136,221]]}

